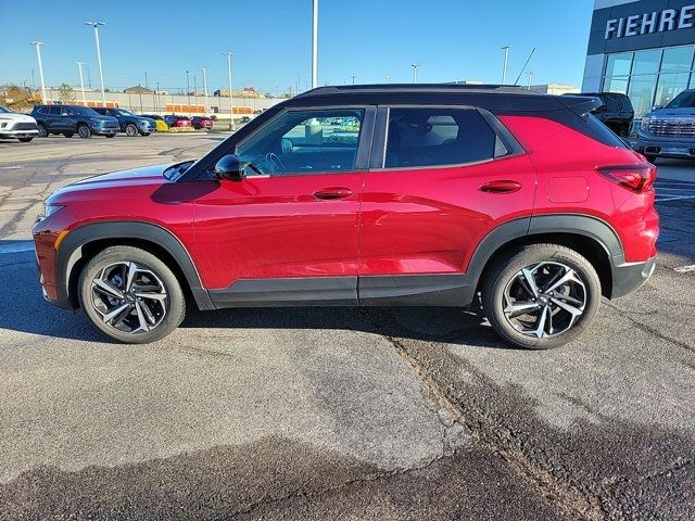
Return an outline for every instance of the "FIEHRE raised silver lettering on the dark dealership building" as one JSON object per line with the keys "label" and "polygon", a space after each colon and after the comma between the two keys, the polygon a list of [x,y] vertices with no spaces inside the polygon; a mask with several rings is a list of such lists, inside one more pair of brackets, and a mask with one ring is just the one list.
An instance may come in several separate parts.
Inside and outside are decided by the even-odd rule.
{"label": "FIEHRE raised silver lettering on the dark dealership building", "polygon": [[664,9],[650,13],[633,14],[606,22],[605,38],[624,38],[664,33],[665,30],[692,29],[695,27],[695,3],[681,9]]}

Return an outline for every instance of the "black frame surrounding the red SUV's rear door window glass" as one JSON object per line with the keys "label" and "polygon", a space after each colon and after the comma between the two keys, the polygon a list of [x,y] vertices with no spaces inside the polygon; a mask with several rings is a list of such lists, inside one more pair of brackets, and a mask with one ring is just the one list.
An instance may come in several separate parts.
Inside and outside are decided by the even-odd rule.
{"label": "black frame surrounding the red SUV's rear door window glass", "polygon": [[[425,166],[390,166],[386,165],[387,157],[387,144],[389,141],[389,118],[391,116],[391,109],[453,109],[453,110],[467,110],[467,111],[476,111],[483,120],[490,127],[492,134],[495,135],[502,144],[507,150],[507,153],[504,155],[493,156],[489,160],[479,160],[479,161],[469,161],[467,163],[452,163],[446,165],[425,165]],[[372,150],[371,150],[371,164],[369,167],[369,171],[392,171],[392,170],[422,170],[422,169],[432,169],[432,168],[460,168],[465,166],[477,166],[483,165],[485,163],[492,163],[495,161],[506,160],[508,157],[514,157],[517,155],[526,154],[526,150],[521,147],[519,141],[514,137],[514,135],[505,127],[497,117],[492,114],[486,109],[482,109],[480,106],[475,105],[451,105],[451,104],[388,104],[388,105],[379,105],[378,107],[378,116],[377,122],[379,126],[375,128],[375,137],[371,141]],[[378,158],[378,162],[374,160]]]}

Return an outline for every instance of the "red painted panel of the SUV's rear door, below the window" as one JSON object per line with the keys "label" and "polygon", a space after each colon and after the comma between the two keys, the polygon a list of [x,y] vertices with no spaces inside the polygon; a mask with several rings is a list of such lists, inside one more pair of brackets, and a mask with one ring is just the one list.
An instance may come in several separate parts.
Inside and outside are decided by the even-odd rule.
{"label": "red painted panel of the SUV's rear door, below the window", "polygon": [[[486,191],[493,181],[515,189]],[[466,272],[489,231],[530,214],[535,181],[527,155],[467,166],[371,170],[361,213],[359,275]]]}

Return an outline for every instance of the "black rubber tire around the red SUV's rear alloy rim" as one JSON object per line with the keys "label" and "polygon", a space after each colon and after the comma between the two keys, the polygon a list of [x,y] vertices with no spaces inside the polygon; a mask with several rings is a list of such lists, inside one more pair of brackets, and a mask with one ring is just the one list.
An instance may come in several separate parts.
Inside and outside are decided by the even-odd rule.
{"label": "black rubber tire around the red SUV's rear alloy rim", "polygon": [[[557,334],[553,334],[551,331],[552,334],[542,335],[542,338],[519,331],[505,315],[505,290],[514,283],[514,279],[518,277],[521,269],[536,266],[540,263],[559,264],[571,268],[583,283],[582,292],[585,301],[583,313],[573,321],[569,321],[567,330]],[[543,298],[538,300],[540,309],[543,308],[540,305],[541,300],[545,301],[545,295],[542,296]],[[531,244],[503,255],[486,270],[482,287],[482,307],[492,328],[509,344],[525,348],[549,350],[577,339],[591,323],[598,310],[599,303],[601,279],[592,264],[576,251],[558,244]],[[559,309],[557,305],[551,303],[551,310],[553,306],[556,310]],[[532,313],[540,313],[540,310]],[[540,319],[538,323],[540,325]]]}

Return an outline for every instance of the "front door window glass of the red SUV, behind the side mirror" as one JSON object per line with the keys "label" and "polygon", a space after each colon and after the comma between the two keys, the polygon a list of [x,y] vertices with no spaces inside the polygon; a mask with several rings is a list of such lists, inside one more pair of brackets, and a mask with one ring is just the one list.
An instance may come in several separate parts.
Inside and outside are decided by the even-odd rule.
{"label": "front door window glass of the red SUV, behind the side mirror", "polygon": [[249,175],[355,169],[363,109],[289,111],[237,147]]}

